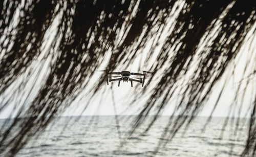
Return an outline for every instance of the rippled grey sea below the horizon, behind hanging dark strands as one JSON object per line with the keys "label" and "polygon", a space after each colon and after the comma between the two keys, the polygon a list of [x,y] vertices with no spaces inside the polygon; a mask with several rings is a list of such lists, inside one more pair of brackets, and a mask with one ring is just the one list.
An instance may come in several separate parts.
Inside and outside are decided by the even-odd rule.
{"label": "rippled grey sea below the horizon, behind hanging dark strands", "polygon": [[118,116],[117,125],[114,116],[61,117],[17,156],[239,156],[247,139],[248,119],[241,119],[238,127],[231,119],[223,130],[225,118],[213,118],[202,131],[207,118],[198,117],[185,132],[182,127],[171,142],[156,151],[159,142],[167,141],[161,134],[168,117],[160,117],[141,134],[148,124],[145,121],[129,136],[134,119]]}

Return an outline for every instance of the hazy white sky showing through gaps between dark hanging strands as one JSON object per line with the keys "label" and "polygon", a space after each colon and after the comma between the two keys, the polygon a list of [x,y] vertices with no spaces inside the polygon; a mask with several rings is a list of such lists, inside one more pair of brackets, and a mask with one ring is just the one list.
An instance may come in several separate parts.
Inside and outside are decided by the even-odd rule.
{"label": "hazy white sky showing through gaps between dark hanging strands", "polygon": [[[182,1],[181,1],[182,2]],[[177,7],[177,10],[180,10],[181,7],[179,5],[176,5],[174,7]],[[179,8],[180,7],[180,8]],[[173,9],[175,10],[175,9]],[[162,34],[159,34],[161,36],[160,42],[164,40],[164,38],[166,37],[166,32],[168,31],[172,31],[173,27],[174,27],[174,19],[175,17],[179,14],[179,11],[176,12],[171,12],[171,16],[169,18],[169,24],[166,26],[166,28],[164,28],[164,31]],[[57,16],[58,18],[58,16]],[[57,23],[58,20],[56,19],[55,23]],[[53,53],[54,50],[49,50],[49,45],[51,44],[52,41],[52,37],[55,35],[54,33],[54,27],[56,27],[56,24],[53,25],[48,33],[46,33],[45,36],[45,43],[42,46],[42,53],[40,55],[39,58],[43,58],[47,53],[50,53],[50,56],[48,57],[48,59],[45,60],[45,62],[41,62],[39,63],[38,61],[34,61],[31,66],[29,67],[29,69],[32,69],[34,71],[34,74],[32,74],[32,76],[30,76],[30,79],[27,80],[30,83],[27,83],[26,86],[24,86],[24,88],[28,89],[27,91],[30,91],[30,89],[32,89],[32,93],[34,93],[34,95],[36,95],[36,93],[38,92],[39,86],[41,83],[44,83],[44,81],[46,80],[47,74],[49,73],[48,71],[48,67],[49,64],[51,63],[51,57],[53,57],[53,61],[56,58],[56,55]],[[211,113],[211,110],[215,104],[215,101],[218,97],[218,89],[222,87],[222,85],[225,83],[226,81],[226,88],[225,91],[222,94],[222,97],[220,99],[219,105],[216,108],[215,112],[214,112],[214,116],[217,117],[225,117],[228,114],[228,111],[230,110],[230,104],[233,101],[233,97],[236,93],[236,90],[239,86],[239,81],[242,79],[242,76],[248,76],[251,72],[253,72],[255,70],[255,56],[256,56],[256,37],[255,37],[255,32],[253,32],[256,28],[256,24],[254,24],[254,26],[252,27],[251,31],[248,33],[248,35],[246,36],[246,39],[244,41],[243,47],[241,48],[240,53],[238,54],[238,56],[236,57],[236,59],[233,61],[233,64],[236,64],[236,68],[234,70],[234,75],[231,76],[232,74],[232,68],[233,68],[233,64],[230,64],[228,67],[228,70],[224,73],[222,79],[216,84],[210,98],[209,101],[206,103],[204,109],[201,111],[201,113],[199,114],[199,116],[209,116],[209,114]],[[216,26],[216,32],[218,32],[218,26]],[[216,32],[212,32],[212,34],[215,34]],[[122,32],[123,33],[123,32]],[[122,34],[121,33],[121,34]],[[254,34],[252,34],[254,33]],[[121,36],[120,34],[120,36]],[[150,42],[153,42],[150,41]],[[137,56],[135,62],[133,64],[131,64],[129,66],[129,68],[127,69],[121,69],[121,68],[117,68],[117,71],[131,71],[131,72],[138,72],[138,68],[139,66],[139,62],[144,62],[146,53],[148,52],[148,50],[151,48],[151,44],[150,42],[148,43],[148,47],[143,50],[143,53],[141,53],[139,56]],[[163,43],[163,42],[162,42]],[[156,56],[159,53],[159,50],[161,48],[162,43],[159,44],[158,49],[156,49],[156,52],[154,54],[154,56]],[[203,46],[204,41],[202,41],[201,46]],[[199,48],[200,49],[200,46]],[[170,52],[172,53],[172,52]],[[111,53],[109,53],[111,54]],[[152,58],[154,58],[154,56]],[[106,58],[108,58],[108,56],[106,56]],[[40,59],[38,59],[40,60]],[[106,61],[108,61],[108,59],[105,59]],[[152,59],[152,64],[154,63],[154,59]],[[102,63],[101,69],[104,69],[104,65],[106,62]],[[245,66],[247,65],[247,70],[244,71]],[[196,66],[196,60],[195,60],[195,66]],[[160,70],[158,72],[158,76],[162,75],[162,72],[164,71],[164,68],[166,68],[168,65],[164,65],[162,71]],[[150,66],[148,66],[150,67]],[[143,70],[147,70],[148,67],[140,67],[140,69]],[[191,69],[193,69],[195,67],[191,67]],[[99,70],[101,70],[99,69]],[[36,78],[37,72],[40,73],[39,77]],[[244,73],[244,75],[243,75]],[[25,73],[23,75],[20,76],[20,78],[15,82],[18,83],[19,81],[22,80],[26,80],[27,76],[29,74]],[[91,83],[90,85],[94,85],[93,81],[97,81],[99,79],[99,76],[101,75],[101,73],[96,73],[93,78],[91,79]],[[189,75],[189,74],[188,74]],[[226,80],[227,79],[227,80]],[[253,80],[254,79],[254,80]],[[35,82],[35,86],[33,88],[31,88],[31,83]],[[26,93],[19,93],[19,91],[15,88],[15,83],[13,85],[11,85],[7,92],[2,95],[0,97],[0,102],[1,100],[4,100],[4,97],[8,97],[8,93],[10,93],[10,91],[15,91],[13,94],[15,94],[15,100],[13,100],[9,105],[9,107],[7,107],[4,111],[2,111],[2,113],[0,113],[0,118],[7,118],[10,115],[12,115],[12,117],[15,115],[15,112],[13,113],[13,108],[16,107],[17,109],[20,107],[20,105],[23,104],[23,102],[25,101],[24,99],[26,98],[26,96],[28,95],[28,92]],[[137,84],[138,82],[134,82],[134,86]],[[242,85],[240,88],[243,88],[244,85],[246,83],[246,79],[242,81]],[[117,86],[117,82],[110,82],[110,85],[107,86],[105,84],[104,88],[106,89],[104,93],[102,93],[103,95],[103,101],[100,101],[100,95],[98,95],[88,106],[88,108],[86,109],[86,111],[84,111],[84,113],[82,115],[114,115],[114,108],[113,108],[113,100],[112,100],[112,92],[111,92],[111,84],[113,84],[113,92],[114,92],[114,98],[115,98],[115,103],[116,103],[116,107],[117,107],[117,114],[118,115],[135,115],[137,113],[139,113],[140,109],[143,107],[143,104],[145,102],[145,100],[147,99],[146,97],[141,98],[140,102],[136,102],[134,103],[132,106],[128,106],[129,104],[129,99],[130,97],[133,96],[133,94],[135,93],[135,88],[131,87],[131,83],[130,82],[121,82],[120,83],[120,87]],[[151,86],[153,85],[154,82],[152,84],[150,84]],[[140,86],[140,88],[142,88]],[[239,105],[242,104],[242,111],[241,111],[241,116],[246,116],[247,117],[250,115],[248,114],[248,109],[250,106],[250,103],[252,102],[251,97],[256,95],[256,80],[255,78],[252,78],[252,81],[250,82],[250,84],[248,85],[248,88],[246,90],[246,93],[244,94],[244,99],[242,99],[242,97],[240,97],[237,102],[237,107],[235,107],[234,113],[236,114],[231,114],[233,116],[238,116],[238,108]],[[148,91],[150,92],[150,90]],[[80,115],[81,110],[83,110],[84,106],[86,106],[86,99],[88,99],[84,93],[86,93],[86,91],[84,91],[79,97],[78,100],[79,101],[75,101],[70,108],[67,109],[67,111],[62,115],[62,116],[72,116],[72,115]],[[101,92],[100,92],[101,93]],[[242,92],[239,92],[239,96],[242,95]],[[33,99],[33,96],[29,96],[30,100]],[[243,102],[241,102],[243,100]],[[165,110],[163,111],[162,115],[170,115],[174,109],[176,105],[175,100],[170,100],[167,107],[165,108]],[[98,107],[99,106],[99,107]],[[16,109],[16,111],[17,111]]]}

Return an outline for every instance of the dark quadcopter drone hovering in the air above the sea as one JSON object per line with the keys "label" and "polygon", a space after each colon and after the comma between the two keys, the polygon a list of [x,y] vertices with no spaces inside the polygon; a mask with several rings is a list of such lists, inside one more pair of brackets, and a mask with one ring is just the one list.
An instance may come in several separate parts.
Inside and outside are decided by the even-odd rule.
{"label": "dark quadcopter drone hovering in the air above the sea", "polygon": [[[103,76],[104,78],[106,78],[106,83],[109,85],[109,82],[112,81],[118,81],[118,86],[120,86],[120,82],[131,82],[131,86],[133,87],[133,81],[135,82],[140,82],[142,83],[142,86],[144,85],[145,82],[145,78],[146,78],[146,73],[152,73],[152,72],[147,72],[147,71],[142,71],[143,73],[131,73],[129,71],[122,71],[122,72],[108,72],[106,70],[104,70],[103,72],[105,72],[105,76]],[[111,76],[109,76],[111,75]],[[112,75],[121,75],[121,76],[112,76]],[[143,77],[134,77],[131,78],[131,75],[134,76],[143,76]],[[113,79],[112,79],[113,78]]]}

